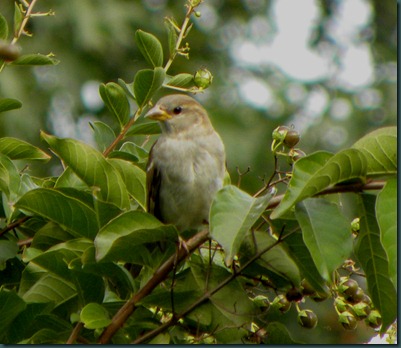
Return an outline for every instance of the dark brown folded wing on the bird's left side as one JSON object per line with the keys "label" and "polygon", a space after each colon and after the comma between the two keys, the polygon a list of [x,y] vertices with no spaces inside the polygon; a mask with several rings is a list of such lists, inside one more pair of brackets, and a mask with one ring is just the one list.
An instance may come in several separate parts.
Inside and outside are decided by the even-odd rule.
{"label": "dark brown folded wing on the bird's left side", "polygon": [[160,185],[161,185],[161,173],[153,160],[152,152],[157,141],[153,144],[149,152],[149,161],[146,166],[146,209],[148,213],[153,214],[159,220],[161,220],[160,212]]}

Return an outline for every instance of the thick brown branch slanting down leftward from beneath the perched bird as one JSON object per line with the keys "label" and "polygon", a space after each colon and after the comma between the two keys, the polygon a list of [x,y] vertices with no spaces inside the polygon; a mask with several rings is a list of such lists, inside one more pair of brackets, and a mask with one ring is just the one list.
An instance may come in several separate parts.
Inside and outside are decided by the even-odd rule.
{"label": "thick brown branch slanting down leftward from beneath the perched bird", "polygon": [[107,344],[113,335],[124,325],[129,316],[134,312],[135,306],[142,298],[149,295],[153,289],[167,278],[176,262],[184,260],[193,250],[209,238],[209,231],[203,230],[186,242],[186,248],[179,245],[177,253],[172,255],[153,275],[151,279],[126,302],[114,315],[111,324],[104,329],[99,337],[98,343]]}

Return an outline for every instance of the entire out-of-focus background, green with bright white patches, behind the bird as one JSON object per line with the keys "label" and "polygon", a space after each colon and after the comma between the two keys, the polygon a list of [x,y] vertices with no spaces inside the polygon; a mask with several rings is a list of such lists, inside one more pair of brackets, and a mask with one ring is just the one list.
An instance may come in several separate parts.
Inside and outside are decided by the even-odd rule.
{"label": "entire out-of-focus background, green with bright white patches, behind the bird", "polygon": [[[134,43],[139,28],[156,35],[166,55],[164,17],[181,23],[184,3],[39,0],[35,11],[52,9],[55,16],[33,18],[33,38],[19,44],[23,53],[52,52],[60,64],[4,69],[0,97],[20,99],[23,107],[0,114],[0,136],[40,144],[43,129],[93,143],[88,122],[110,122],[99,84],[132,82],[147,67]],[[14,1],[0,1],[10,25],[13,8]],[[339,151],[396,124],[395,0],[205,0],[199,11],[187,38],[190,60],[179,57],[170,72],[207,67],[213,73],[212,86],[197,98],[224,140],[233,181],[237,167],[251,168],[242,178],[246,191],[255,192],[272,172],[271,132],[278,125],[294,125],[299,146],[310,153]],[[48,175],[48,168],[31,170]],[[344,331],[331,302],[329,309],[313,302],[302,307],[319,316],[313,332],[299,328],[295,310],[278,318],[298,340],[313,334],[316,343],[353,343],[372,335],[364,324]]]}

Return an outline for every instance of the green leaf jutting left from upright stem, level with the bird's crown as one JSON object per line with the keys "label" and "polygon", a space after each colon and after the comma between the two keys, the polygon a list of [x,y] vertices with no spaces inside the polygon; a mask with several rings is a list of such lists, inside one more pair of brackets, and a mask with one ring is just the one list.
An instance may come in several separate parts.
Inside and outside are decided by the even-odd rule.
{"label": "green leaf jutting left from upright stem, level with the bird's crown", "polygon": [[102,83],[99,86],[99,93],[122,128],[129,120],[129,102],[124,89],[114,82]]}

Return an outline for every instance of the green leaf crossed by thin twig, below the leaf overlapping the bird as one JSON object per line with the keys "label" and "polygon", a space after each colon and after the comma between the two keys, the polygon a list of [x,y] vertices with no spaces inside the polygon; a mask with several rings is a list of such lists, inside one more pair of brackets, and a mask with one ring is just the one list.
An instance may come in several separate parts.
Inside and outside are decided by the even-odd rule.
{"label": "green leaf crossed by thin twig, below the leaf overlapping the bird", "polygon": [[277,288],[288,289],[301,282],[298,266],[277,239],[261,231],[247,235],[239,256],[241,264],[249,261],[261,250],[267,250],[245,272],[254,276],[267,275]]}

